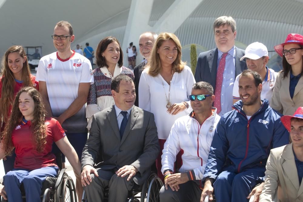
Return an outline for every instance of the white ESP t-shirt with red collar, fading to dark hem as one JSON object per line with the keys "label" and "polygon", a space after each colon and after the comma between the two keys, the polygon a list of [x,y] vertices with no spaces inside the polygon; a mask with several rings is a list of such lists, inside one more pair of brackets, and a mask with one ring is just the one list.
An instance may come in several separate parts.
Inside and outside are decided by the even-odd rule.
{"label": "white ESP t-shirt with red collar, fading to dark hem", "polygon": [[[89,60],[74,52],[68,59],[61,59],[57,52],[40,59],[36,75],[37,81],[45,81],[52,114],[60,116],[78,97],[80,83],[94,83]],[[87,132],[85,105],[64,121],[62,127],[67,133]]]}

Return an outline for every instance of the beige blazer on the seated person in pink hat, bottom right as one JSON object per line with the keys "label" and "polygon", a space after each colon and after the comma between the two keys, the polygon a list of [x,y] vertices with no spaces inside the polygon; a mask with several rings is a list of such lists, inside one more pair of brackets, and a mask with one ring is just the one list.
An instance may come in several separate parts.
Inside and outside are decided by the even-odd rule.
{"label": "beige blazer on the seated person in pink hat, bottom right", "polygon": [[303,184],[299,183],[292,143],[270,151],[259,202],[265,201],[303,201]]}

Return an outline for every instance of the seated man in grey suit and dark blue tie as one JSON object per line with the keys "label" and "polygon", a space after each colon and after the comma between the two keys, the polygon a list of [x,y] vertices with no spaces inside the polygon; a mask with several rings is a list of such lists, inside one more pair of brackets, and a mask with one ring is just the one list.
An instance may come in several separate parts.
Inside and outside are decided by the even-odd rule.
{"label": "seated man in grey suit and dark blue tie", "polygon": [[105,187],[109,202],[125,201],[134,183],[148,178],[159,153],[154,115],[133,106],[133,80],[120,74],[111,89],[115,105],[93,116],[81,158],[81,182],[89,202],[103,201]]}

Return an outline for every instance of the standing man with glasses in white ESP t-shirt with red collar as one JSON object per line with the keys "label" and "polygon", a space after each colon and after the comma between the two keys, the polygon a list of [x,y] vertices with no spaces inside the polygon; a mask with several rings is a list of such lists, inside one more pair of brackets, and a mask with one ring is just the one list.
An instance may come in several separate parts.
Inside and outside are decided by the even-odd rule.
{"label": "standing man with glasses in white ESP t-shirt with red collar", "polygon": [[[94,83],[92,66],[87,58],[71,50],[75,35],[69,22],[58,22],[52,39],[57,52],[40,59],[36,76],[39,92],[42,94],[47,116],[59,121],[81,159],[87,140],[85,103],[89,87]],[[53,152],[59,152],[55,144]],[[62,167],[65,167],[64,156],[62,162]],[[75,175],[78,199],[81,200],[83,188],[80,176],[76,172]]]}

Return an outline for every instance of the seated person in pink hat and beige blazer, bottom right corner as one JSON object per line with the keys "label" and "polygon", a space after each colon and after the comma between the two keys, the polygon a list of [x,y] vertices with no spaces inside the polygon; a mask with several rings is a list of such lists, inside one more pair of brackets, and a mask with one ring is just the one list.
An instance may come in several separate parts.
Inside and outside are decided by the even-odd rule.
{"label": "seated person in pink hat and beige blazer, bottom right corner", "polygon": [[292,143],[270,151],[259,202],[303,201],[303,107],[281,122]]}

